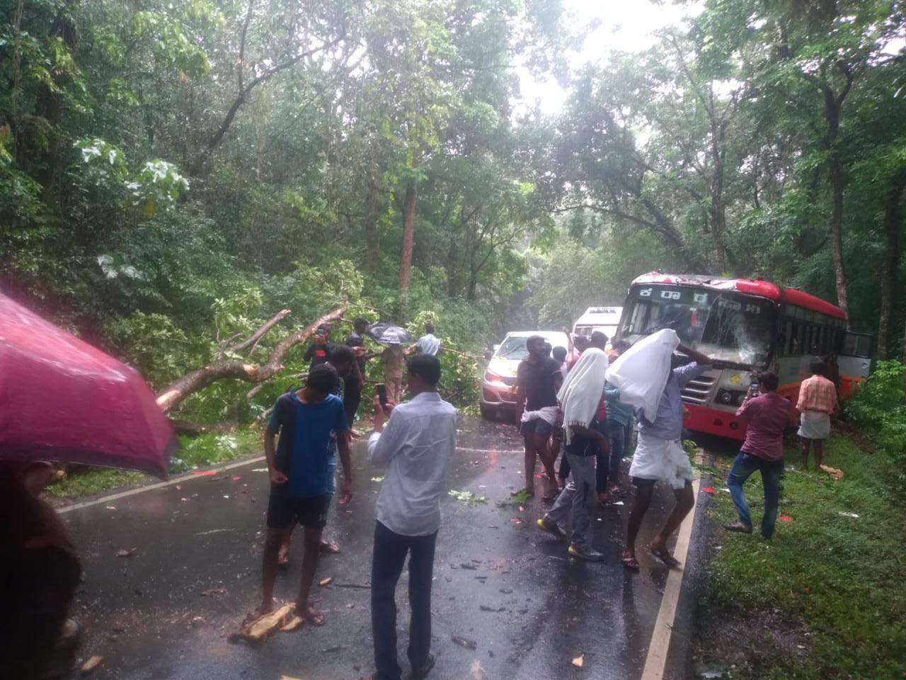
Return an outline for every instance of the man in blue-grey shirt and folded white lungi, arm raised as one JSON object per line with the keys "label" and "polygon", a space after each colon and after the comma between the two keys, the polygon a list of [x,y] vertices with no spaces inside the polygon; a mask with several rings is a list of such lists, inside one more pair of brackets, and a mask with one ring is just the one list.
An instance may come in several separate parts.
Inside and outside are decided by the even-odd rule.
{"label": "man in blue-grey shirt and folded white lungi, arm raised", "polygon": [[679,562],[667,549],[667,541],[673,532],[679,529],[679,524],[695,505],[695,497],[692,494],[692,465],[681,442],[683,416],[681,390],[690,380],[708,370],[711,359],[683,345],[679,345],[677,349],[688,355],[692,363],[680,366],[677,355],[673,355],[670,374],[664,392],[660,395],[654,421],[649,422],[641,409],[637,413],[639,442],[632,455],[629,469],[632,483],[636,487],[636,496],[626,528],[626,545],[621,557],[623,566],[633,571],[639,569],[639,561],[635,557],[635,539],[639,535],[641,520],[651,505],[654,484],[657,481],[666,481],[676,497],[676,505],[670,512],[670,517],[650,545],[651,554],[668,567],[679,567]]}

